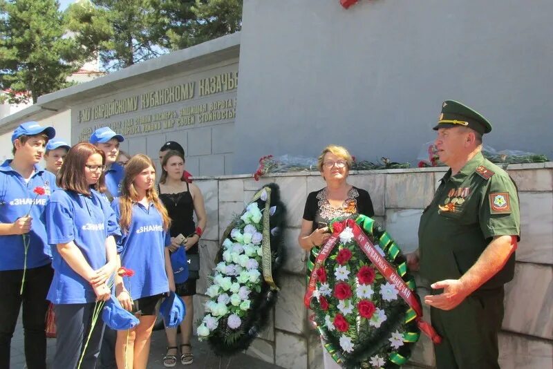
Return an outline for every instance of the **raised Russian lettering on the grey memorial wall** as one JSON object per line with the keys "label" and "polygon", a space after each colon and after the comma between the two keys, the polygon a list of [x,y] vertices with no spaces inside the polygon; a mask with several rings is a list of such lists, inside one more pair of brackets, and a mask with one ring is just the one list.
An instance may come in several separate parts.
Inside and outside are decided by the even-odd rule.
{"label": "raised Russian lettering on the grey memorial wall", "polygon": [[232,92],[237,86],[238,72],[231,71],[91,104],[79,108],[74,129],[81,126],[78,140],[86,141],[106,125],[133,136],[234,119],[236,94]]}

